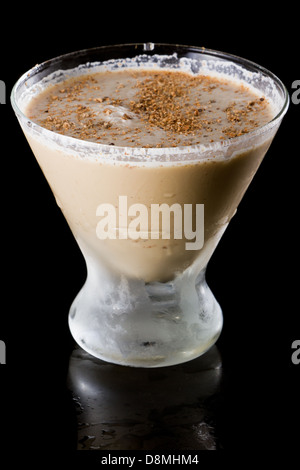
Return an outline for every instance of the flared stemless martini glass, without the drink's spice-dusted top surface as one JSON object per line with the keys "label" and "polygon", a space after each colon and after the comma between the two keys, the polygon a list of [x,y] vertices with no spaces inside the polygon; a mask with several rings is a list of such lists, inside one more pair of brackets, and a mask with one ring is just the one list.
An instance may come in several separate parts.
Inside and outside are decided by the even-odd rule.
{"label": "flared stemless martini glass, without the drink's spice-dusted top surface", "polygon": [[[27,103],[48,84],[99,64],[188,67],[190,73],[235,77],[272,103],[274,117],[247,134],[206,145],[129,148],[61,135],[26,116]],[[69,312],[77,343],[100,359],[136,367],[178,364],[207,351],[220,335],[223,318],[205,270],[287,111],[281,81],[259,65],[217,51],[129,44],[37,65],[17,81],[11,100],[86,261],[87,279]],[[195,233],[197,244],[191,248],[186,234],[176,236],[174,229],[172,236],[162,237],[161,226],[139,219],[143,234],[126,237],[122,221],[129,220],[129,203],[139,208],[140,217],[140,208],[149,216],[152,204],[168,207],[169,215],[172,208],[174,217],[175,208],[183,213],[198,207],[203,233]],[[112,219],[115,235],[103,237],[99,217],[109,208],[118,214]]]}

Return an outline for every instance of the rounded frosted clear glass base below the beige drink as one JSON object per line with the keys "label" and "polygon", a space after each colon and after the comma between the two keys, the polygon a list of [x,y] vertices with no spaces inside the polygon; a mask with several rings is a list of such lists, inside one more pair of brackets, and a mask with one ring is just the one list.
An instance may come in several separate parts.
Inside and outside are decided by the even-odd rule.
{"label": "rounded frosted clear glass base below the beige drink", "polygon": [[[202,271],[168,283],[97,281],[89,274],[69,313],[75,341],[91,355],[120,365],[162,367],[204,354],[219,337],[221,308]],[[101,286],[101,288],[99,288]]]}

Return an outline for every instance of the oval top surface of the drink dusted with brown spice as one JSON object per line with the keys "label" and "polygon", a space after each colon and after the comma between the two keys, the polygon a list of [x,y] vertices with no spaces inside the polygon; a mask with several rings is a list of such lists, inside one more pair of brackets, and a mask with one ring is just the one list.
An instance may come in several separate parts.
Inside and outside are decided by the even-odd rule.
{"label": "oval top surface of the drink dusted with brown spice", "polygon": [[272,119],[245,85],[178,70],[115,70],[73,77],[36,96],[27,116],[74,138],[127,147],[230,139]]}

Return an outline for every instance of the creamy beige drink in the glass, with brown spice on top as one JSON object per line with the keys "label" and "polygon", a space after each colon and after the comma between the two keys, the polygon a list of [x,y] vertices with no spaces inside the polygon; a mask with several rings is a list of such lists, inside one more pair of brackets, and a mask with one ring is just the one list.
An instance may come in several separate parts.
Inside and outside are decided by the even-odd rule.
{"label": "creamy beige drink in the glass, with brown spice on top", "polygon": [[[243,85],[168,74],[156,72],[154,80],[145,72],[98,73],[84,80],[85,87],[82,78],[72,79],[35,97],[26,114],[58,133],[131,147],[209,143],[245,134],[273,117],[267,100]],[[174,77],[173,85],[189,86],[174,85],[170,99],[171,93],[163,95],[166,77],[169,83]],[[159,80],[164,87],[156,88],[151,98],[149,87],[153,89]],[[270,144],[269,137],[231,157],[212,155],[197,162],[164,165],[110,163],[101,159],[101,148],[99,158],[81,158],[29,133],[27,139],[85,255],[99,259],[112,272],[145,282],[172,280],[194,262],[198,272],[206,266]],[[149,213],[151,204],[204,204],[203,248],[187,250],[184,237],[152,239],[150,231],[148,239],[99,240],[97,207],[109,203],[118,212],[120,195],[127,197],[128,204],[144,204]]]}

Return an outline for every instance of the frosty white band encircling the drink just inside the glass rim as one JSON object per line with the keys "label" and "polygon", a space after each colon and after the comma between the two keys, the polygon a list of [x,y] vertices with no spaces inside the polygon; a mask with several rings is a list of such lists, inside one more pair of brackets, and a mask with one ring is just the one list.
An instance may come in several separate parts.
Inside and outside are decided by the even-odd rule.
{"label": "frosty white band encircling the drink just inside the glass rim", "polygon": [[[257,129],[249,133],[240,135],[231,139],[224,139],[215,142],[196,142],[191,145],[177,145],[176,147],[164,146],[163,148],[143,147],[143,146],[127,146],[127,145],[108,145],[102,142],[82,141],[73,138],[69,135],[61,135],[53,133],[52,131],[38,126],[33,120],[28,121],[30,131],[34,133],[35,138],[44,139],[54,147],[63,146],[64,151],[74,154],[80,158],[91,158],[97,161],[105,161],[112,164],[134,162],[135,164],[157,165],[163,163],[164,165],[187,164],[198,160],[207,158],[223,159],[228,158],[232,154],[232,150],[227,152],[228,146],[236,142],[236,150],[243,146],[244,148],[251,148],[253,143],[257,143],[260,139],[260,134],[263,134],[268,126],[272,125],[272,118],[278,114],[282,106],[282,98],[279,96],[273,81],[264,76],[260,72],[251,72],[244,69],[238,64],[222,60],[209,60],[202,61],[191,58],[178,58],[177,54],[173,55],[154,55],[149,57],[147,55],[139,55],[134,58],[109,60],[105,62],[87,62],[81,64],[76,68],[68,70],[57,70],[52,74],[44,77],[38,83],[30,86],[23,92],[20,98],[20,109],[26,115],[31,103],[38,96],[47,92],[53,86],[61,85],[66,80],[81,79],[89,74],[113,72],[113,71],[151,71],[151,72],[174,72],[180,71],[188,73],[190,76],[197,77],[208,75],[212,79],[231,81],[234,87],[244,86],[247,87],[253,96],[264,96],[269,102],[269,118],[264,125],[259,126]],[[99,103],[100,105],[100,103]],[[101,113],[101,119],[107,122],[117,122],[119,125],[124,125],[122,116],[126,113],[130,119],[126,125],[135,124],[135,115],[126,107],[102,105],[103,110],[111,111],[105,115]],[[123,114],[122,114],[123,113]],[[155,129],[159,134],[159,129]],[[252,138],[254,137],[254,138]],[[252,139],[251,139],[252,138]],[[246,144],[247,142],[247,144]]]}

